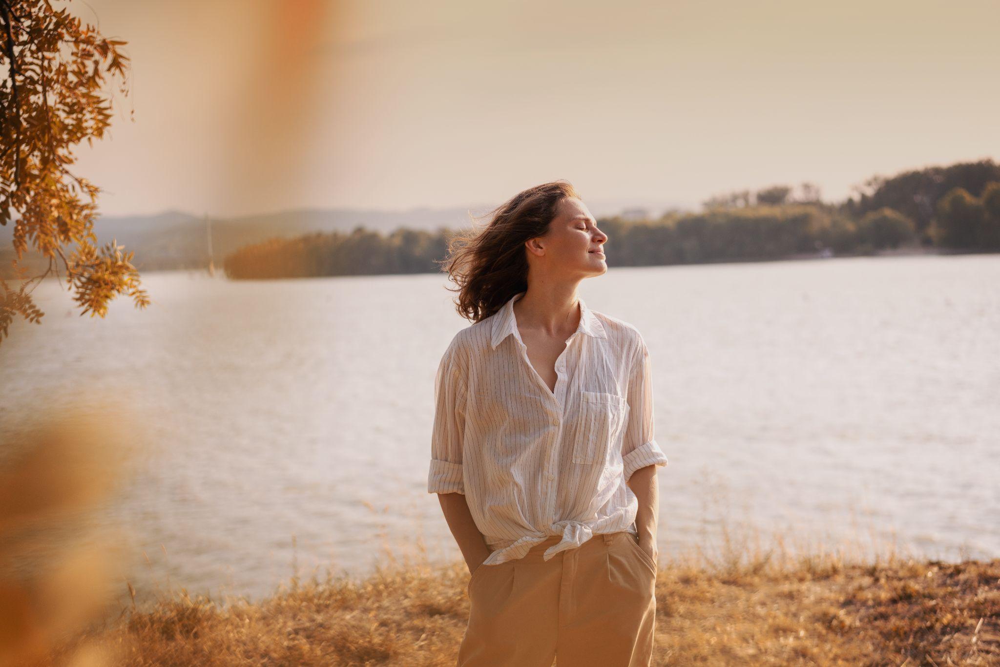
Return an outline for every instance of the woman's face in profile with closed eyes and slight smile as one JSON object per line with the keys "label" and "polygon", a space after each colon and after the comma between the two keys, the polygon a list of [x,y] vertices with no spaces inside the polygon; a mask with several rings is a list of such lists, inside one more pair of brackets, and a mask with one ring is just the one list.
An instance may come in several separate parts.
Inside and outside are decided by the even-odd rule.
{"label": "woman's face in profile with closed eyes and slight smile", "polygon": [[603,252],[607,240],[586,205],[576,197],[565,197],[559,202],[556,217],[549,223],[545,236],[529,243],[536,244],[534,254],[546,258],[547,270],[599,276],[608,270]]}

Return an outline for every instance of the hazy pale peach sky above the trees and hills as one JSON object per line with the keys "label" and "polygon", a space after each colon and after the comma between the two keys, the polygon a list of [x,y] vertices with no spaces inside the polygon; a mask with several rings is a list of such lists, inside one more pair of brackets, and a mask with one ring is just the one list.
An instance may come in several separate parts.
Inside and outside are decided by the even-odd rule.
{"label": "hazy pale peach sky above the trees and hills", "polygon": [[696,208],[1000,159],[1000,3],[70,0],[128,94],[77,151],[105,215]]}

